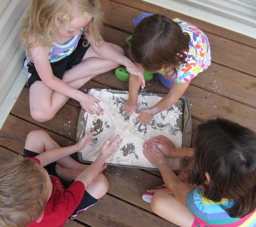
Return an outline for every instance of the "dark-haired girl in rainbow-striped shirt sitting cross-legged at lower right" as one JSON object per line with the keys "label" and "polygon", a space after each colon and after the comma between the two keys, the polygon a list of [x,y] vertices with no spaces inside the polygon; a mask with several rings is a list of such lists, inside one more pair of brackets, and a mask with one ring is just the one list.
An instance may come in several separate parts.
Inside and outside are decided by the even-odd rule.
{"label": "dark-haired girl in rainbow-striped shirt sitting cross-legged at lower right", "polygon": [[256,133],[217,118],[197,127],[192,148],[188,182],[196,188],[182,182],[166,161],[166,156],[189,157],[191,149],[176,149],[164,137],[144,144],[145,157],[165,183],[143,195],[148,202],[151,195],[152,210],[181,227],[255,227]]}

